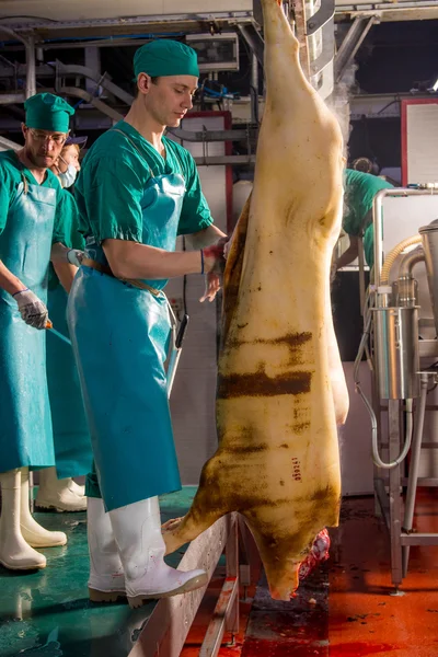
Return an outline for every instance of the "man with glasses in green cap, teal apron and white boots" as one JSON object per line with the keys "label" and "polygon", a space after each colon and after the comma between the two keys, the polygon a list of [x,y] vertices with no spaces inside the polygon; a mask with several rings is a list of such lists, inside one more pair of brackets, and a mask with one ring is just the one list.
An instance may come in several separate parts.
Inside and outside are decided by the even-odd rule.
{"label": "man with glasses in green cap, teal apron and white boots", "polygon": [[64,545],[30,512],[28,469],[55,464],[46,379],[47,275],[71,285],[78,261],[66,246],[69,210],[49,170],[73,108],[50,93],[25,104],[24,147],[0,153],[0,563],[44,568],[34,548]]}

